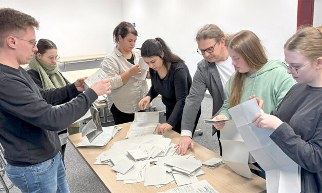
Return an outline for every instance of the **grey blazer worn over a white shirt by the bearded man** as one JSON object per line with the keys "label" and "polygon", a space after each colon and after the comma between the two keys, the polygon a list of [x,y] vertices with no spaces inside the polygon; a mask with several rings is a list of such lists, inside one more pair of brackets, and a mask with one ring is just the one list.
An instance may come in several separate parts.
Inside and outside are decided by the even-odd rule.
{"label": "grey blazer worn over a white shirt by the bearded man", "polygon": [[[219,111],[225,99],[223,93],[224,88],[222,87],[216,64],[209,63],[203,59],[198,63],[190,92],[185,99],[181,130],[190,130],[193,132],[197,113],[201,106],[206,89],[209,90],[213,98],[214,115]],[[216,131],[217,129],[213,127],[213,135]]]}

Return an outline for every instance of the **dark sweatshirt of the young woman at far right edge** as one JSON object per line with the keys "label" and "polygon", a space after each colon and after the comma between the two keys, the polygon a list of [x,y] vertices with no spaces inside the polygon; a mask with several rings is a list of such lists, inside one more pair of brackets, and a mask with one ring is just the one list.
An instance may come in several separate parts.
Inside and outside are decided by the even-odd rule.
{"label": "dark sweatshirt of the young woman at far right edge", "polygon": [[296,84],[276,111],[283,123],[270,138],[301,166],[301,192],[322,191],[322,87]]}

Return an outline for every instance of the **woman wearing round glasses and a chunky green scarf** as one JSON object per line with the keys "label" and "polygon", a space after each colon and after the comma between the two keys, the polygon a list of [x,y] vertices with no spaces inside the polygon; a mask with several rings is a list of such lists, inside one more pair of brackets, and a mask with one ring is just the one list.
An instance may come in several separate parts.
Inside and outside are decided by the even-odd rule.
{"label": "woman wearing round glasses and a chunky green scarf", "polygon": [[[27,70],[33,81],[41,88],[47,90],[52,88],[64,87],[69,84],[63,75],[58,71],[56,63],[59,60],[56,45],[47,39],[40,39],[37,43],[38,51],[29,62],[30,69]],[[68,101],[66,101],[68,102]],[[79,129],[79,123],[72,124],[68,129]],[[67,143],[67,128],[58,132],[61,141],[62,160]]]}

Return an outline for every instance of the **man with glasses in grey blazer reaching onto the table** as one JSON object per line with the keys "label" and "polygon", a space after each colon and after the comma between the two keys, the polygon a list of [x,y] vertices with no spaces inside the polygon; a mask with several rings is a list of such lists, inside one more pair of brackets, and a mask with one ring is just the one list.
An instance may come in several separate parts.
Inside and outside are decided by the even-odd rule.
{"label": "man with glasses in grey blazer reaching onto the table", "polygon": [[[203,60],[198,63],[193,83],[185,100],[185,105],[181,123],[181,138],[178,154],[184,155],[188,147],[194,148],[192,136],[194,124],[198,110],[204,98],[206,89],[209,90],[213,99],[213,114],[216,114],[226,99],[225,84],[230,76],[235,72],[232,65],[232,58],[229,56],[225,43],[225,34],[221,29],[213,24],[208,24],[199,29],[196,41],[197,52],[203,56]],[[220,131],[213,127],[213,135],[217,132],[218,141]],[[222,155],[219,141],[220,155]]]}

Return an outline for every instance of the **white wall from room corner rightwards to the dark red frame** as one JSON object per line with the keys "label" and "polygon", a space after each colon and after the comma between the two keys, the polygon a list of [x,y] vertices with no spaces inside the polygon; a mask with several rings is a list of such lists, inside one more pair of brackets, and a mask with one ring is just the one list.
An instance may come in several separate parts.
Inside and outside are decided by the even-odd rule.
{"label": "white wall from room corner rightwards to the dark red frame", "polygon": [[269,58],[280,60],[283,44],[296,31],[297,0],[122,0],[122,4],[124,20],[136,23],[137,46],[147,38],[162,37],[186,61],[192,75],[202,59],[195,35],[205,24],[216,24],[225,33],[251,30]]}

